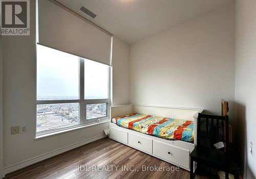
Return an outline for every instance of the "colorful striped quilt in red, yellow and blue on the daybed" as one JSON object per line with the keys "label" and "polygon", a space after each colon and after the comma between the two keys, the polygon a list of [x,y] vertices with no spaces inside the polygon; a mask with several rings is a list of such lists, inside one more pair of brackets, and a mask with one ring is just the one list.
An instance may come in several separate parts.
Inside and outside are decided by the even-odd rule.
{"label": "colorful striped quilt in red, yellow and blue on the daybed", "polygon": [[191,143],[194,141],[193,121],[135,113],[113,118],[112,122],[120,127],[163,139],[182,140]]}

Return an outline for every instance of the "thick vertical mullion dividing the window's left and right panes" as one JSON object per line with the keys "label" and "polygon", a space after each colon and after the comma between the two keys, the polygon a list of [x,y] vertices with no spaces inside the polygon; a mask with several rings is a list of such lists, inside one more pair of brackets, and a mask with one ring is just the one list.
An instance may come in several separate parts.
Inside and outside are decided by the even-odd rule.
{"label": "thick vertical mullion dividing the window's left and right panes", "polygon": [[84,59],[79,58],[79,99],[80,99],[80,116],[79,123],[84,124],[86,119],[86,105],[84,103]]}

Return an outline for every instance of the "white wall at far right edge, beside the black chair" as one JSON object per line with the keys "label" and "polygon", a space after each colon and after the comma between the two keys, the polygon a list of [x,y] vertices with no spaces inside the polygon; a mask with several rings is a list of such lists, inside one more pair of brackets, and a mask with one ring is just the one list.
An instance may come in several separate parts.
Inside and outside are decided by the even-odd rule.
{"label": "white wall at far right edge, beside the black chair", "polygon": [[[245,178],[256,178],[256,1],[236,2],[237,146]],[[250,141],[254,155],[250,154]]]}

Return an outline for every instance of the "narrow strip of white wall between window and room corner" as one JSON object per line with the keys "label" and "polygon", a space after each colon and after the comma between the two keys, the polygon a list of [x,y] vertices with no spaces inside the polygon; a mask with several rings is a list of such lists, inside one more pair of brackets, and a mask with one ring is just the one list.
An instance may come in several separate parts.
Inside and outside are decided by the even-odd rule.
{"label": "narrow strip of white wall between window and room corner", "polygon": [[113,37],[113,105],[130,102],[129,44]]}

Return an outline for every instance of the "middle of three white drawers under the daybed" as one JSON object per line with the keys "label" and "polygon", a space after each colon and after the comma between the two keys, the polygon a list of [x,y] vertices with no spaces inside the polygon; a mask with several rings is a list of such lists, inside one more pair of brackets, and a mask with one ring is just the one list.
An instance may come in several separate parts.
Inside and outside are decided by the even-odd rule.
{"label": "middle of three white drawers under the daybed", "polygon": [[152,153],[152,139],[128,133],[128,142],[132,147]]}

